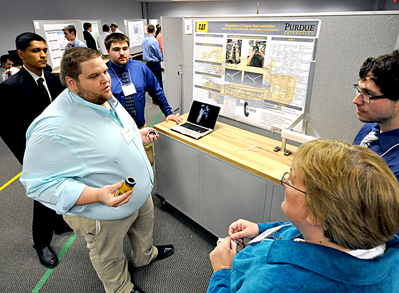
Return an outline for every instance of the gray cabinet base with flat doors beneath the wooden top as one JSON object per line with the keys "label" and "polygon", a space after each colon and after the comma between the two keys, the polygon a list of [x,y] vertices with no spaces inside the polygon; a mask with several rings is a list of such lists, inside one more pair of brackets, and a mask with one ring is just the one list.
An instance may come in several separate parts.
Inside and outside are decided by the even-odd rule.
{"label": "gray cabinet base with flat doors beneath the wooden top", "polygon": [[216,236],[239,218],[286,220],[282,186],[163,133],[154,149],[157,194]]}

